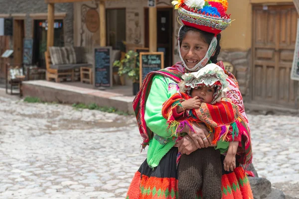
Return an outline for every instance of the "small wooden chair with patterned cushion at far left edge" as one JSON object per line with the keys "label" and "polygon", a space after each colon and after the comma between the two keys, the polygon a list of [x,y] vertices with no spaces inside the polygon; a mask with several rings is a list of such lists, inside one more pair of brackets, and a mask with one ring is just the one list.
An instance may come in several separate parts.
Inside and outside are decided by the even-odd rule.
{"label": "small wooden chair with patterned cushion at far left edge", "polygon": [[[22,81],[25,79],[23,68],[20,66],[10,66],[9,63],[5,65],[5,91],[6,94],[19,95],[22,97]],[[8,85],[10,85],[10,92],[8,92]],[[18,87],[19,92],[14,93],[13,88]]]}

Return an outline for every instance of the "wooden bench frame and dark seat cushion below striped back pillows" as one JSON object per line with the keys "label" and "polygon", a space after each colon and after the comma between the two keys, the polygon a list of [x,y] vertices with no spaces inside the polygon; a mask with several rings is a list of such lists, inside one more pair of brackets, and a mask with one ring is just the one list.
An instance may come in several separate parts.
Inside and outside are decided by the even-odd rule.
{"label": "wooden bench frame and dark seat cushion below striped back pillows", "polygon": [[50,81],[54,79],[55,82],[60,82],[60,79],[64,81],[68,77],[71,77],[71,81],[74,81],[74,69],[80,69],[80,67],[92,67],[92,64],[58,64],[52,65],[50,53],[45,52],[45,61],[46,61],[46,80]]}

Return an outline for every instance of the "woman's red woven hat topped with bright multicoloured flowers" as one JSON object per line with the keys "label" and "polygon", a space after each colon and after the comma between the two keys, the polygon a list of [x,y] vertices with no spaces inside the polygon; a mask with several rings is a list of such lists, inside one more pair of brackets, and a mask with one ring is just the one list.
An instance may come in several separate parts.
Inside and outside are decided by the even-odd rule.
{"label": "woman's red woven hat topped with bright multicoloured flowers", "polygon": [[227,0],[173,0],[184,25],[219,34],[230,23]]}

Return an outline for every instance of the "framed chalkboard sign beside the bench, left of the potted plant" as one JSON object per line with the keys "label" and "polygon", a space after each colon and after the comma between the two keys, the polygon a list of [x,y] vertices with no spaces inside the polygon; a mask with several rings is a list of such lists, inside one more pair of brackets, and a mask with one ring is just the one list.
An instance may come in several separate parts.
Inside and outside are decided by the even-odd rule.
{"label": "framed chalkboard sign beside the bench, left of the potted plant", "polygon": [[112,47],[94,48],[94,87],[112,87]]}

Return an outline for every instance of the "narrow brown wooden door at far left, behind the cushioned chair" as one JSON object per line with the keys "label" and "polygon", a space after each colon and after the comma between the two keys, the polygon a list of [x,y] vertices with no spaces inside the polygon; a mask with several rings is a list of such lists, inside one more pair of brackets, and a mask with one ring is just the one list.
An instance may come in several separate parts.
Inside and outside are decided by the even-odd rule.
{"label": "narrow brown wooden door at far left, behind the cushioned chair", "polygon": [[24,20],[13,20],[13,62],[20,66],[23,62]]}

